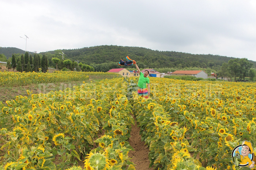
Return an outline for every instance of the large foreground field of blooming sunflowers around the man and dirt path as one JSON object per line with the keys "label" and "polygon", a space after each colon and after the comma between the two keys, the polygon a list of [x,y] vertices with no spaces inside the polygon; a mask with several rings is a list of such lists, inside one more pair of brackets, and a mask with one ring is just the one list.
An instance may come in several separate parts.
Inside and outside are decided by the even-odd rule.
{"label": "large foreground field of blooming sunflowers around the man and dirt path", "polygon": [[134,170],[131,114],[155,169],[234,169],[234,147],[256,149],[255,83],[150,83],[149,99],[114,78],[0,103],[0,170]]}

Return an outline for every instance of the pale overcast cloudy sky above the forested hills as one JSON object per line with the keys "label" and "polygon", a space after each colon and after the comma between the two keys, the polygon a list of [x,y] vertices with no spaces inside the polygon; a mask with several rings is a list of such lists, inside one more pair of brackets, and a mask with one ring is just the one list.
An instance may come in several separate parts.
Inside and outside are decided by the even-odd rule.
{"label": "pale overcast cloudy sky above the forested hills", "polygon": [[[256,0],[1,0],[0,47],[101,45],[256,61]],[[23,38],[21,38],[21,37]]]}

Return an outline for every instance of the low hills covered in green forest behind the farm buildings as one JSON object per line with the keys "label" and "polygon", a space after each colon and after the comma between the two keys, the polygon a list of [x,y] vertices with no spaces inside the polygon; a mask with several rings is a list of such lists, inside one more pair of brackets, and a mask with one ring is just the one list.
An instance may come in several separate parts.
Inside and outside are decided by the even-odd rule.
{"label": "low hills covered in green forest behind the farm buildings", "polygon": [[[11,51],[10,47],[2,47],[0,49],[0,54],[10,55],[12,53],[22,53],[25,51],[18,51],[20,49],[13,48]],[[8,51],[6,54],[4,51]],[[175,51],[158,51],[150,50],[143,47],[123,47],[123,46],[95,46],[95,47],[84,47],[79,49],[70,50],[54,50],[48,52],[41,52],[40,54],[45,54],[48,60],[53,57],[62,58],[59,54],[64,52],[64,59],[79,60],[79,62],[93,66],[95,70],[98,66],[102,67],[104,65],[112,65],[109,68],[119,68],[117,62],[120,59],[125,60],[125,56],[129,56],[131,59],[136,60],[139,67],[143,68],[185,68],[185,67],[199,67],[199,68],[212,68],[218,70],[222,63],[227,63],[230,59],[235,59],[233,57],[211,55],[211,54],[189,54],[184,52]],[[7,57],[8,58],[8,57]],[[249,60],[256,67],[256,62]],[[49,61],[49,64],[51,62]]]}

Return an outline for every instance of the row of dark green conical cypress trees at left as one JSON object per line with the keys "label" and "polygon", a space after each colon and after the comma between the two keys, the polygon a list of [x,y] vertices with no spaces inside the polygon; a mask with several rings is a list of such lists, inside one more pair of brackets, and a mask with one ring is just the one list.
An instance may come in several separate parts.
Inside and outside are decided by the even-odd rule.
{"label": "row of dark green conical cypress trees at left", "polygon": [[45,55],[42,58],[39,54],[34,54],[34,59],[32,55],[26,51],[25,55],[21,55],[20,59],[16,59],[15,55],[12,54],[12,62],[7,62],[7,69],[15,69],[20,72],[31,72],[35,71],[38,72],[39,68],[41,68],[42,72],[47,72],[48,70],[48,59]]}

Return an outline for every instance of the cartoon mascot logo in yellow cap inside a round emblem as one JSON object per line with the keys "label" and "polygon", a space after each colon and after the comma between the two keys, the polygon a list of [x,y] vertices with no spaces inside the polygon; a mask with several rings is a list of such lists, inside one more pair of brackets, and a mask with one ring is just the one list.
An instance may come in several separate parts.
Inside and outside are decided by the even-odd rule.
{"label": "cartoon mascot logo in yellow cap inside a round emblem", "polygon": [[232,151],[232,161],[236,165],[236,168],[241,166],[248,166],[253,168],[255,162],[253,160],[253,148],[252,143],[244,141],[242,145],[238,145]]}

